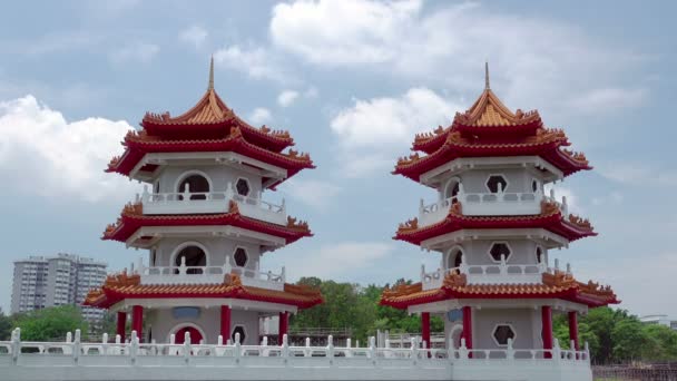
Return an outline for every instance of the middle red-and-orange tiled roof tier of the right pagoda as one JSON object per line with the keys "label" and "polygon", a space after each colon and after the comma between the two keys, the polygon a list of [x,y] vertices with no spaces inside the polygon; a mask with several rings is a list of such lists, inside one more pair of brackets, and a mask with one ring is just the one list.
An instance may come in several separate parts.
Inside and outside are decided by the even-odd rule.
{"label": "middle red-and-orange tiled roof tier of the right pagoda", "polygon": [[444,219],[419,226],[419,219],[413,218],[400,224],[394,240],[405,241],[414,245],[447,233],[465,228],[530,228],[540,227],[576,241],[587,236],[595,236],[592,225],[576,215],[563,216],[560,207],[553,202],[541,203],[541,213],[522,216],[465,216],[462,214],[461,203],[454,203],[449,208]]}

